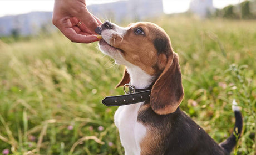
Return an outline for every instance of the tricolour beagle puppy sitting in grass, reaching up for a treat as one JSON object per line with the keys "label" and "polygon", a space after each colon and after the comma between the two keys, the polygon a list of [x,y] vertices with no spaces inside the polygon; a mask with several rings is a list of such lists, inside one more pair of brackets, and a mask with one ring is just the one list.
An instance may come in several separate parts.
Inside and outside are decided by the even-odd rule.
{"label": "tricolour beagle puppy sitting in grass, reaching up for a treat", "polygon": [[165,31],[154,23],[139,22],[123,28],[105,22],[98,30],[99,47],[116,64],[125,65],[117,86],[150,89],[150,98],[120,106],[115,112],[125,155],[230,154],[236,135],[242,131],[242,115],[237,107],[234,133],[217,144],[199,125],[180,110],[184,91],[179,56]]}

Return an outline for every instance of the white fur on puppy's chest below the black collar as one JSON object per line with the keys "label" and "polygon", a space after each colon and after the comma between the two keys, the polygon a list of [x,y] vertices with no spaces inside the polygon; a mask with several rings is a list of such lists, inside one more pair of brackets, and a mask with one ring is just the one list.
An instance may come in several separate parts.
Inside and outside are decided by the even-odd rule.
{"label": "white fur on puppy's chest below the black collar", "polygon": [[141,104],[120,106],[114,116],[125,155],[140,154],[140,142],[146,135],[146,127],[137,122]]}

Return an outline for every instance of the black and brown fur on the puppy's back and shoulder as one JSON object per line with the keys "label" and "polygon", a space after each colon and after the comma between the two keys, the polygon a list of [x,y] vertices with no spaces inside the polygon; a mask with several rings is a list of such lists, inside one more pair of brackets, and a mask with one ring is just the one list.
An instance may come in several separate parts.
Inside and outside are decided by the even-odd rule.
{"label": "black and brown fur on the puppy's back and shoulder", "polygon": [[161,141],[150,147],[155,155],[228,154],[179,107],[168,115],[157,115],[150,107],[139,112],[137,121],[160,133]]}

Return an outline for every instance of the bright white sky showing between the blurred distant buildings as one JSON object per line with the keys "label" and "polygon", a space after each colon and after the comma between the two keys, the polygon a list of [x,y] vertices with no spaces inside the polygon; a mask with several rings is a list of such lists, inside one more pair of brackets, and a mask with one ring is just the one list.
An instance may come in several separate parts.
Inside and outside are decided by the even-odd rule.
{"label": "bright white sky showing between the blurred distant buildings", "polygon": [[[86,0],[86,4],[114,2],[116,0]],[[213,0],[213,6],[224,8],[229,4],[238,4],[244,0]],[[163,0],[164,12],[180,13],[189,8],[190,0]],[[12,14],[22,14],[32,11],[53,11],[54,0],[0,0],[0,17]]]}

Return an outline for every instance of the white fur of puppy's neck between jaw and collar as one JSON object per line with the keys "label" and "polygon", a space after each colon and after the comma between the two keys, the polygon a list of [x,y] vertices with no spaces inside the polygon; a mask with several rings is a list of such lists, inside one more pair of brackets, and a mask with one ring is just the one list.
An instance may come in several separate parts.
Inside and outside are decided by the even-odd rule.
{"label": "white fur of puppy's neck between jaw and collar", "polygon": [[136,89],[147,89],[154,81],[154,76],[147,74],[138,66],[126,66],[130,75],[130,84],[134,85]]}

